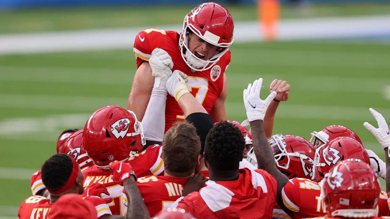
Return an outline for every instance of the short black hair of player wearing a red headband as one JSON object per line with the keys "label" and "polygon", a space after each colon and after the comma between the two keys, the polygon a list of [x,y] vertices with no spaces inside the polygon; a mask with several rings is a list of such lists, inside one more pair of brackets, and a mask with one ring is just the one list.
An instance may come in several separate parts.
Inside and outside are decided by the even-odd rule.
{"label": "short black hair of player wearing a red headband", "polygon": [[64,153],[55,154],[42,165],[42,182],[48,190],[58,190],[66,184],[72,169],[71,157]]}

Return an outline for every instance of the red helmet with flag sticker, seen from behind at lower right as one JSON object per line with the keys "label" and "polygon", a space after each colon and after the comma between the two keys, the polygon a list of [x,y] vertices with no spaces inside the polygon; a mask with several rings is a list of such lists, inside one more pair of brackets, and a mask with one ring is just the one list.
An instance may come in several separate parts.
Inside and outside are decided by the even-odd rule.
{"label": "red helmet with flag sticker, seen from behind at lower right", "polygon": [[330,217],[373,217],[381,186],[375,171],[359,159],[340,161],[320,182]]}

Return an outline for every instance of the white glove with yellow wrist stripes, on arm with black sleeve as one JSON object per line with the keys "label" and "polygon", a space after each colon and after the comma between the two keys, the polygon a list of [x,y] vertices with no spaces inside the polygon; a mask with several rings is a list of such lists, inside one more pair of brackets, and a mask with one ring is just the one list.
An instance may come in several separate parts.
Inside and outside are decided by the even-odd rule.
{"label": "white glove with yellow wrist stripes, on arm with black sleeve", "polygon": [[172,97],[175,97],[176,101],[179,101],[180,97],[184,94],[190,93],[190,91],[188,91],[186,82],[188,82],[187,75],[179,70],[175,70],[168,78],[168,93]]}

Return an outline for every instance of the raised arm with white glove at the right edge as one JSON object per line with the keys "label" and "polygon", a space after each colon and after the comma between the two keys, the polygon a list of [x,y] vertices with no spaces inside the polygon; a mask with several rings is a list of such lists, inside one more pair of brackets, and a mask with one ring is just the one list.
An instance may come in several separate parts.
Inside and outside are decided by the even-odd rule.
{"label": "raised arm with white glove at the right edge", "polygon": [[[378,122],[378,128],[375,128],[373,125],[369,124],[368,122],[365,122],[363,125],[364,127],[370,131],[376,138],[376,140],[381,144],[383,150],[385,150],[385,157],[386,157],[386,179],[389,179],[390,176],[390,157],[388,156],[389,152],[389,146],[390,146],[390,130],[386,123],[385,118],[375,111],[374,109],[370,108],[371,114],[375,117],[376,121]],[[387,193],[390,192],[390,180],[386,180],[386,191]]]}

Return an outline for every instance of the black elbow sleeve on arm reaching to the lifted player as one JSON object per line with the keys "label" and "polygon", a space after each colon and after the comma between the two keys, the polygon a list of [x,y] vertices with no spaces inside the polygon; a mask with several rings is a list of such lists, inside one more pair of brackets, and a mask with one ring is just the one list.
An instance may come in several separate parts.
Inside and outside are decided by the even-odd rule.
{"label": "black elbow sleeve on arm reaching to the lifted player", "polygon": [[204,142],[206,141],[206,136],[209,134],[210,129],[213,128],[213,120],[211,120],[210,115],[207,113],[191,113],[187,116],[186,120],[192,123],[196,128],[200,143],[202,144],[200,155],[203,156]]}

